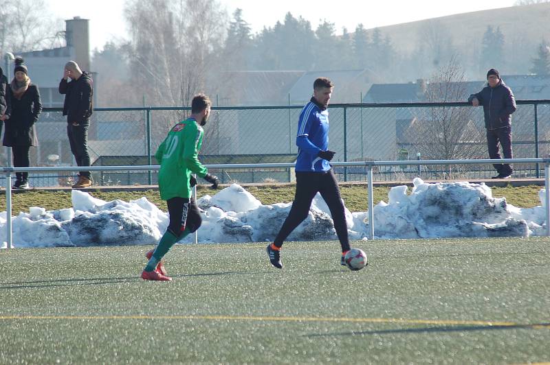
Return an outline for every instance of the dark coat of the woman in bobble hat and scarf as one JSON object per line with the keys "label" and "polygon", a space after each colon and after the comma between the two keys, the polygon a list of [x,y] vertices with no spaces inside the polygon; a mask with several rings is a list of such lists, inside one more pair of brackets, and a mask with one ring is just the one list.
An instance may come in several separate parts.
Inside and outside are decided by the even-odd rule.
{"label": "dark coat of the woman in bobble hat and scarf", "polygon": [[5,123],[3,145],[38,145],[36,126],[42,111],[42,102],[38,86],[30,84],[21,100],[14,97],[11,87],[8,87],[8,97],[12,104],[12,115]]}

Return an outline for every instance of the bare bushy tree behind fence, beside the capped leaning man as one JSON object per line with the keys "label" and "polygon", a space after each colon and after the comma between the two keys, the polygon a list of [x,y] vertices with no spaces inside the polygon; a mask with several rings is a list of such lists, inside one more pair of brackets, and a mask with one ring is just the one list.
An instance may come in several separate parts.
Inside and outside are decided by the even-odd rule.
{"label": "bare bushy tree behind fence, beside the capped leaning man", "polygon": [[[467,98],[464,73],[452,57],[428,80],[426,102],[463,102]],[[419,109],[407,134],[423,158],[454,160],[479,158],[485,153],[483,126],[476,123],[474,110],[464,106]]]}

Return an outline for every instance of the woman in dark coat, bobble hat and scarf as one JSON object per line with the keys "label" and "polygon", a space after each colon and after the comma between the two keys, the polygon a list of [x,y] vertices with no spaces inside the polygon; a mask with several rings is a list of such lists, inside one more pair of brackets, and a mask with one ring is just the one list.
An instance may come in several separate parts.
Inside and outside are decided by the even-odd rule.
{"label": "woman in dark coat, bobble hat and scarf", "polygon": [[[29,167],[29,150],[38,145],[34,123],[39,119],[42,103],[38,86],[30,82],[23,58],[15,59],[14,79],[8,89],[12,106],[9,119],[5,119],[3,145],[11,147],[14,167]],[[28,189],[28,172],[17,172],[14,189]]]}

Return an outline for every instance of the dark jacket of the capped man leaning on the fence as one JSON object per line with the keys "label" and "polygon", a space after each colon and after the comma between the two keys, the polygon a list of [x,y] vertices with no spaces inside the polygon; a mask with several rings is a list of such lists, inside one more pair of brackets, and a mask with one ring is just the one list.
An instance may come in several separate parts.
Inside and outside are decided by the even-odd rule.
{"label": "dark jacket of the capped man leaning on the fence", "polygon": [[511,126],[511,114],[516,111],[516,99],[502,79],[494,88],[487,85],[479,93],[470,95],[468,97],[470,104],[474,97],[477,97],[479,105],[483,105],[485,128],[498,129]]}

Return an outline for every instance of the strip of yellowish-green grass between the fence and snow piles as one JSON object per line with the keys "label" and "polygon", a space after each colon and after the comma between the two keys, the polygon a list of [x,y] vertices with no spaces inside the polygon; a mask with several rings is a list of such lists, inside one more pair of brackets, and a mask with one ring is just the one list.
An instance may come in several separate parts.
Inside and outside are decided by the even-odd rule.
{"label": "strip of yellowish-green grass between the fence and snow piles", "polygon": [[[274,204],[281,202],[292,202],[294,198],[294,185],[265,185],[246,187],[262,204]],[[509,204],[515,207],[531,208],[540,205],[538,192],[541,187],[531,185],[527,187],[494,187],[492,188],[495,198],[506,198]],[[352,212],[367,211],[367,189],[366,185],[340,185],[342,198],[346,207]],[[374,188],[374,203],[380,200],[388,202],[388,191],[390,187]],[[200,187],[197,191],[199,198],[206,194],[213,195],[215,192]],[[409,189],[410,193],[410,189]],[[91,191],[91,196],[107,202],[115,199],[124,201],[139,199],[145,196],[150,202],[156,204],[159,209],[166,211],[166,203],[160,200],[158,191]],[[13,214],[20,211],[28,212],[29,207],[43,207],[48,211],[72,207],[70,191],[38,191],[30,190],[21,193],[14,193],[12,196]],[[0,211],[5,211],[5,197],[0,198]]]}

